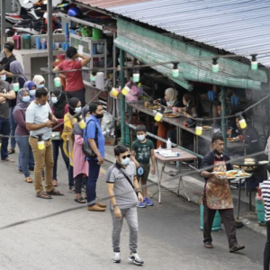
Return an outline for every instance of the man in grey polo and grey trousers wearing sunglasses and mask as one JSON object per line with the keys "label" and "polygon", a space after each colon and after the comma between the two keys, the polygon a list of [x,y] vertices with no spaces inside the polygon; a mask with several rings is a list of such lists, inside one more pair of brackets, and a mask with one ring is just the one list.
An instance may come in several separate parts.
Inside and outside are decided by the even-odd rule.
{"label": "man in grey polo and grey trousers wearing sunglasses and mask", "polygon": [[[143,265],[137,253],[138,214],[137,203],[143,202],[139,183],[136,177],[136,166],[130,161],[130,153],[125,146],[114,148],[115,165],[110,166],[106,174],[108,193],[111,196],[112,211],[112,247],[113,263],[120,263],[120,236],[122,219],[126,218],[130,228],[130,257],[135,265]],[[137,192],[137,193],[136,193]]]}

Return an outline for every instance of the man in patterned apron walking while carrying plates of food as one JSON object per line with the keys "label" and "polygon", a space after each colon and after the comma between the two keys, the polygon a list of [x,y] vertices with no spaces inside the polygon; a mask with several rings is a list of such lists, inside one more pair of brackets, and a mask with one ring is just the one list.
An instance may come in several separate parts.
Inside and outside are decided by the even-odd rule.
{"label": "man in patterned apron walking while carrying plates of food", "polygon": [[[236,222],[233,215],[233,201],[226,175],[231,170],[229,156],[223,153],[224,139],[215,133],[211,139],[213,151],[202,159],[201,176],[204,177],[203,192],[203,243],[204,247],[212,248],[211,226],[216,211],[220,212],[229,241],[229,252],[236,252],[245,246],[238,245],[236,238]],[[204,168],[204,169],[203,169]]]}

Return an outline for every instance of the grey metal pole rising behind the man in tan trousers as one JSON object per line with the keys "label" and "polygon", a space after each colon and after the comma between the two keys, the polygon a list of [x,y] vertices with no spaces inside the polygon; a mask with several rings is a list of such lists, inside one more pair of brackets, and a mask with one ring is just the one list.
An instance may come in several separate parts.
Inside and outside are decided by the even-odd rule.
{"label": "grey metal pole rising behind the man in tan trousers", "polygon": [[53,68],[53,49],[52,49],[52,43],[53,43],[53,36],[52,36],[52,0],[47,1],[47,14],[48,14],[48,67],[49,67],[49,76],[48,76],[48,90],[49,94],[53,90],[53,74],[52,74],[52,68]]}

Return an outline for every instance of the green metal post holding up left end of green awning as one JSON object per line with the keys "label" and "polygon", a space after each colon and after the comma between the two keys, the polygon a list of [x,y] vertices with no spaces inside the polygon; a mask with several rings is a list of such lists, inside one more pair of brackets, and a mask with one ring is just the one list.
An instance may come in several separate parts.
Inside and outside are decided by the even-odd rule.
{"label": "green metal post holding up left end of green awning", "polygon": [[[124,51],[120,50],[120,78],[121,78],[121,88],[125,86],[125,74],[124,69]],[[125,96],[121,94],[121,144],[126,144],[126,134],[125,134]]]}

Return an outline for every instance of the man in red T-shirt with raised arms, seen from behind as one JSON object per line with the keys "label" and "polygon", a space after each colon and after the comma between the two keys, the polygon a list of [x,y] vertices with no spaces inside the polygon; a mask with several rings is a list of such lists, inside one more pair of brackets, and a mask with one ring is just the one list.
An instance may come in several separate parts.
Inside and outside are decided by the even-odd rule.
{"label": "man in red T-shirt with raised arms, seen from behind", "polygon": [[[82,58],[81,60],[76,60],[76,58]],[[71,69],[81,69],[85,67],[91,58],[85,57],[84,55],[78,54],[76,48],[69,47],[67,49],[67,60],[62,61],[57,67],[53,68],[53,71],[67,71]],[[85,106],[85,85],[83,82],[82,70],[76,70],[71,72],[63,72],[60,76],[65,76],[66,94],[69,101],[70,98],[78,98],[82,106]]]}

